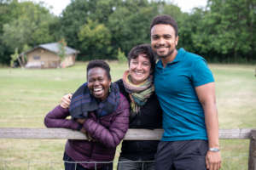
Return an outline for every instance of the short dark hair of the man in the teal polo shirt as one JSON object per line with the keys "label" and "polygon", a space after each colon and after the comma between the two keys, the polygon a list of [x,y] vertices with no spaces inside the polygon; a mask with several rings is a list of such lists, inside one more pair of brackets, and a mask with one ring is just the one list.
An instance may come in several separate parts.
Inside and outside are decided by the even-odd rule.
{"label": "short dark hair of the man in the teal polo shirt", "polygon": [[172,18],[172,16],[167,15],[167,14],[161,14],[161,15],[155,16],[150,25],[150,32],[151,32],[153,26],[159,25],[159,24],[172,26],[175,30],[175,36],[177,37],[177,23]]}

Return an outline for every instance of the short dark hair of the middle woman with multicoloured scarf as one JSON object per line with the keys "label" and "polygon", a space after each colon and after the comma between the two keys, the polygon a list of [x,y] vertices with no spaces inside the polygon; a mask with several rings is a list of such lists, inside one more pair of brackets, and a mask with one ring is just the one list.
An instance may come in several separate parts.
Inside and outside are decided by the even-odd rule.
{"label": "short dark hair of the middle woman with multicoloured scarf", "polygon": [[151,70],[154,71],[154,66],[155,66],[155,56],[154,52],[152,51],[152,48],[150,44],[141,44],[137,45],[134,48],[131,48],[131,51],[128,54],[128,62],[130,65],[131,59],[137,59],[139,54],[146,54],[146,58],[149,59],[150,64],[151,64]]}

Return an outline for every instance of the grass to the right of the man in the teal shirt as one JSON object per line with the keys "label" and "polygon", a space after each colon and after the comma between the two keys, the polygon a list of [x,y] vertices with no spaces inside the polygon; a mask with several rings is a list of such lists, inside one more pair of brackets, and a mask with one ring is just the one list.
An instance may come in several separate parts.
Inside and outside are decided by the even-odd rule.
{"label": "grass to the right of the man in the teal shirt", "polygon": [[[210,65],[216,81],[219,128],[256,128],[256,77],[252,65]],[[220,140],[223,168],[246,170],[249,140]]]}

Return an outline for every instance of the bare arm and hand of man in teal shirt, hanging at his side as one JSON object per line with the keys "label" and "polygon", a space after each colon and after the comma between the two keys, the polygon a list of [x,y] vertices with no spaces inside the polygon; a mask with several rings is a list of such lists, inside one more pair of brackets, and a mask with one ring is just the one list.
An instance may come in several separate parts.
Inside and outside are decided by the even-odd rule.
{"label": "bare arm and hand of man in teal shirt, hanging at his side", "polygon": [[[215,97],[215,84],[210,82],[195,88],[198,99],[205,113],[209,148],[219,149],[218,111]],[[221,166],[220,151],[207,151],[207,169],[218,170]]]}

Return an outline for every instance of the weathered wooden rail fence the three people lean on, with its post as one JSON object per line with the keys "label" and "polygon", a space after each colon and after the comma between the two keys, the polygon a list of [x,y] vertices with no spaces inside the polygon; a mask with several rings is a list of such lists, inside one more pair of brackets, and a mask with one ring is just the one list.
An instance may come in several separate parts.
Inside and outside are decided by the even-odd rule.
{"label": "weathered wooden rail fence the three people lean on, with its post", "polygon": [[[160,140],[162,129],[129,129],[125,140]],[[0,139],[87,139],[65,128],[0,128]],[[222,129],[219,139],[250,139],[248,170],[256,170],[256,129]]]}

